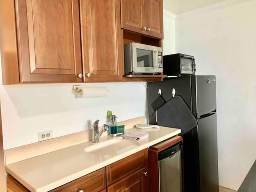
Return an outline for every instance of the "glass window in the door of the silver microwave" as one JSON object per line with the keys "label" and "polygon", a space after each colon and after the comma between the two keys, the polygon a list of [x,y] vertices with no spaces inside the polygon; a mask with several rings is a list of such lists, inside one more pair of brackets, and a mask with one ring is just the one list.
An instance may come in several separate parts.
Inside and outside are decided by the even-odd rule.
{"label": "glass window in the door of the silver microwave", "polygon": [[153,51],[136,49],[137,67],[153,67]]}

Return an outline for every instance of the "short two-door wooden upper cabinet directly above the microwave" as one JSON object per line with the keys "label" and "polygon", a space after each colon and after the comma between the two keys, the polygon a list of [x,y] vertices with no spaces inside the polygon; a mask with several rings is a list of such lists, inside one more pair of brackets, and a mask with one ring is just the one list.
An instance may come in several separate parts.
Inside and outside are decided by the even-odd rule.
{"label": "short two-door wooden upper cabinet directly above the microwave", "polygon": [[121,27],[163,39],[162,0],[121,0]]}

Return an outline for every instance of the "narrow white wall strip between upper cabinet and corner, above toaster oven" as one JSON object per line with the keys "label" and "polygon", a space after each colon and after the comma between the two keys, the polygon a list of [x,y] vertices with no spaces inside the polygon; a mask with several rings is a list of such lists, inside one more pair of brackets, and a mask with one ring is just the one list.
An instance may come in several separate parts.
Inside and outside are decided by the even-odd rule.
{"label": "narrow white wall strip between upper cabinet and corner, above toaster oven", "polygon": [[175,53],[175,19],[175,14],[164,9],[163,55]]}

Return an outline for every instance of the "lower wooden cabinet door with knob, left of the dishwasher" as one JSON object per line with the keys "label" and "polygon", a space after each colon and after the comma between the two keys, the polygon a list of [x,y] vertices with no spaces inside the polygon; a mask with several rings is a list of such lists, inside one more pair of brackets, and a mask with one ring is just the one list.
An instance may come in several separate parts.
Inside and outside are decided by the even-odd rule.
{"label": "lower wooden cabinet door with knob, left of the dishwasher", "polygon": [[146,169],[139,169],[122,180],[107,187],[108,192],[146,192]]}

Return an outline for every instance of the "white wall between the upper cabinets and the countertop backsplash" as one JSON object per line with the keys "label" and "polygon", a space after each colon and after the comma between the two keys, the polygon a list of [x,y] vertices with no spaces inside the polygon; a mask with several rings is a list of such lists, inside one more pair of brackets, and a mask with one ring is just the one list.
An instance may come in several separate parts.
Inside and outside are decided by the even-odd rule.
{"label": "white wall between the upper cabinets and the countertop backsplash", "polygon": [[[76,99],[73,85],[105,86],[110,94]],[[117,121],[146,115],[146,88],[142,82],[5,86],[0,83],[0,99],[4,149],[37,142],[37,133],[45,130],[53,130],[53,137],[59,137],[91,128],[96,119],[100,119],[101,126],[106,122],[107,110],[117,115]]]}

